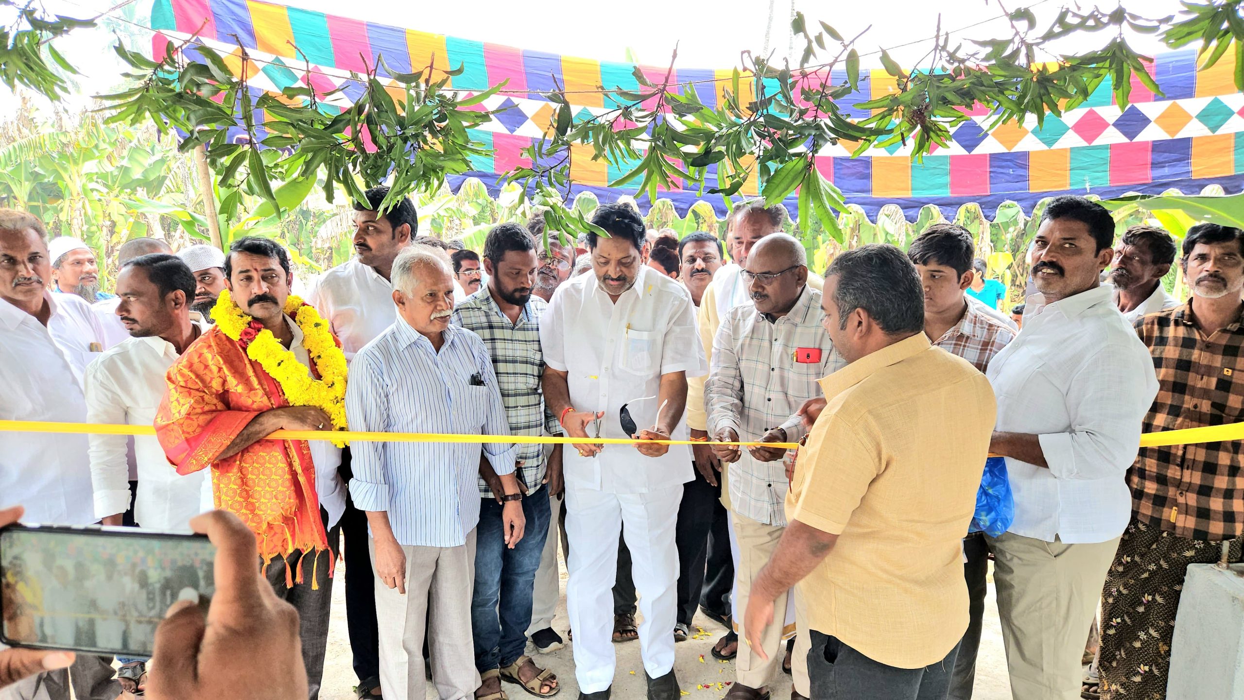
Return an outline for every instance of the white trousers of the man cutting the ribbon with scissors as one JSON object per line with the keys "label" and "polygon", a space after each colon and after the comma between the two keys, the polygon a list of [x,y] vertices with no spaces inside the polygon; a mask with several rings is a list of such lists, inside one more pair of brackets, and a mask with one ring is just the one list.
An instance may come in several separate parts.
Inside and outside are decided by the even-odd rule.
{"label": "white trousers of the man cutting the ribbon with scissors", "polygon": [[649,678],[674,668],[678,622],[678,548],[674,532],[682,485],[652,494],[566,490],[570,581],[566,608],[575,632],[575,678],[581,693],[613,684],[613,581],[618,531],[631,550],[631,576],[639,594],[639,649]]}

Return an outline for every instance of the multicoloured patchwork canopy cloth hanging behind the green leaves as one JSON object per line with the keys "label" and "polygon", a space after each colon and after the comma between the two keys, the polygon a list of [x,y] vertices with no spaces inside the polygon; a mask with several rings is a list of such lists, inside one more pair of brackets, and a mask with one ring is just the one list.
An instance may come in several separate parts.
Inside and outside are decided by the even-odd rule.
{"label": "multicoloured patchwork canopy cloth hanging behind the green leaves", "polygon": [[[164,55],[169,41],[197,36],[229,55],[235,75],[246,65],[255,90],[279,92],[300,85],[323,93],[341,87],[325,109],[340,109],[362,93],[350,73],[374,67],[378,55],[396,72],[462,66],[450,86],[465,92],[509,81],[503,93],[484,103],[488,109],[505,111],[471,133],[493,154],[474,159],[470,173],[454,177],[455,189],[466,178],[479,178],[495,189],[499,173],[524,162],[521,149],[545,133],[554,116],[554,104],[541,98],[541,91],[564,87],[576,116],[586,118],[612,104],[602,88],[639,87],[631,63],[484,44],[256,0],[156,0],[152,29],[157,31],[157,56]],[[240,47],[246,48],[249,62],[241,60]],[[193,46],[185,55],[195,58]],[[654,82],[668,70],[639,68]],[[1147,68],[1164,94],[1157,96],[1132,78],[1132,103],[1126,109],[1115,103],[1107,78],[1084,106],[1061,117],[1046,114],[1040,128],[1031,119],[986,133],[983,124],[989,123],[989,109],[980,107],[953,129],[947,148],[921,162],[912,160],[911,147],[896,144],[851,158],[853,145],[838,144],[817,154],[817,167],[870,218],[886,204],[897,204],[914,218],[924,204],[957,209],[975,201],[993,216],[1003,201],[1016,201],[1029,210],[1056,194],[1107,198],[1171,188],[1193,193],[1209,184],[1239,191],[1244,185],[1244,94],[1234,86],[1234,55],[1228,52],[1218,65],[1198,72],[1193,50],[1174,51],[1158,55]],[[387,77],[383,71],[379,75]],[[710,106],[722,99],[730,75],[729,68],[674,68],[679,90],[695,90]],[[826,71],[804,80],[820,85],[845,77],[845,71]],[[856,104],[886,94],[896,85],[886,71],[872,70],[861,76],[860,88],[842,101],[852,117],[867,117],[868,112]],[[592,191],[602,201],[637,194],[633,188],[608,187],[628,168],[592,160],[591,147],[575,148],[573,191]],[[710,169],[710,180],[715,177]],[[756,194],[756,187],[753,179],[741,194]],[[678,188],[661,198],[672,200],[680,214],[700,199],[697,189]],[[647,195],[638,201],[647,208]],[[710,201],[724,214],[719,198]],[[794,198],[787,205],[795,214]]]}

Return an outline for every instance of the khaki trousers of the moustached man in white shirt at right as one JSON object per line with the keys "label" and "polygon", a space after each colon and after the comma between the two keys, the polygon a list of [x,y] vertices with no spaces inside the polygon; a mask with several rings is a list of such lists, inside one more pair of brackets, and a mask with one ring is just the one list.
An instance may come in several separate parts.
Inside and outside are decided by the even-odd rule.
{"label": "khaki trousers of the moustached man in white shirt at right", "polygon": [[1066,545],[1005,532],[989,547],[1011,696],[1079,699],[1080,658],[1118,537]]}

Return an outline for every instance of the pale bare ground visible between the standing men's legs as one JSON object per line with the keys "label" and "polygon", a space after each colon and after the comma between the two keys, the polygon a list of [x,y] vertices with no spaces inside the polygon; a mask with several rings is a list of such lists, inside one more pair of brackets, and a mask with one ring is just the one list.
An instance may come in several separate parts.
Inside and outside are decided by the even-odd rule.
{"label": "pale bare ground visible between the standing men's legs", "polygon": [[[350,639],[346,634],[346,602],[345,602],[345,577],[338,568],[337,579],[333,584],[332,622],[328,629],[328,654],[323,669],[323,688],[320,693],[321,700],[355,700],[353,686],[358,683],[351,669]],[[565,586],[566,571],[561,572],[562,603],[557,608],[557,618],[554,628],[566,635],[566,604]],[[674,669],[683,694],[688,700],[718,699],[725,695],[725,681],[734,680],[734,664],[718,661],[709,654],[714,640],[724,633],[722,625],[697,615],[695,625],[692,629],[693,638],[678,644],[678,656]],[[613,698],[631,700],[642,699],[644,694],[643,664],[639,659],[639,643],[628,642],[617,644],[618,671],[613,684]],[[532,649],[529,645],[527,652]],[[547,665],[560,679],[562,690],[557,698],[575,700],[578,696],[578,686],[575,684],[573,652],[570,644],[560,652],[552,654],[534,654],[536,663]],[[720,686],[718,684],[722,684]],[[435,694],[429,685],[428,698],[435,699]],[[774,700],[790,698],[790,676],[780,675],[774,685]],[[534,698],[527,695],[520,686],[505,684],[505,691],[510,698],[520,700]],[[1006,678],[1006,659],[1003,655],[1003,637],[998,624],[998,607],[994,603],[994,587],[989,584],[989,599],[985,603],[985,624],[980,639],[980,655],[977,661],[977,685],[973,694],[974,700],[1009,700],[1010,683]]]}

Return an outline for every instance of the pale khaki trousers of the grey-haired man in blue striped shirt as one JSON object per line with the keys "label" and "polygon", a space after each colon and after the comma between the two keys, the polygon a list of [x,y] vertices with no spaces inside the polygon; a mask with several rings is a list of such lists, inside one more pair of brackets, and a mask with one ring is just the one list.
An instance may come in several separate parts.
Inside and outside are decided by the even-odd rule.
{"label": "pale khaki trousers of the grey-haired man in blue striped shirt", "polygon": [[[376,541],[368,537],[376,561]],[[470,632],[475,581],[475,530],[458,547],[407,547],[406,593],[376,578],[376,622],[381,648],[381,691],[386,700],[423,700],[423,638],[432,658],[432,683],[442,700],[475,696],[479,671]],[[427,629],[424,629],[427,627]]]}

